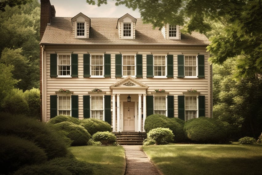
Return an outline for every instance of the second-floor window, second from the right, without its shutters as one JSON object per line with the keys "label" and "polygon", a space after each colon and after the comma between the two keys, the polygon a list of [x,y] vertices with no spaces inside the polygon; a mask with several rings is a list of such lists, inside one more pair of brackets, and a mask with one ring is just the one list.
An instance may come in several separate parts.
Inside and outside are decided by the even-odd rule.
{"label": "second-floor window, second from the right, without its shutters", "polygon": [[154,77],[166,77],[166,55],[154,55]]}

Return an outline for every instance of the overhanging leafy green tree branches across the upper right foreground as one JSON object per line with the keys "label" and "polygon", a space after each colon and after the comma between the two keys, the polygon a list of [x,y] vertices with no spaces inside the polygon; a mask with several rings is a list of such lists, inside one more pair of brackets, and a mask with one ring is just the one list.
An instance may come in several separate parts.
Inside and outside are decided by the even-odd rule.
{"label": "overhanging leafy green tree branches across the upper right foreground", "polygon": [[[87,0],[100,6],[107,0]],[[206,33],[212,23],[223,24],[223,32],[212,38],[208,50],[213,63],[242,56],[237,61],[235,77],[252,77],[262,73],[262,1],[261,0],[116,0],[116,6],[138,9],[145,23],[162,27],[166,23],[184,26],[186,32]]]}

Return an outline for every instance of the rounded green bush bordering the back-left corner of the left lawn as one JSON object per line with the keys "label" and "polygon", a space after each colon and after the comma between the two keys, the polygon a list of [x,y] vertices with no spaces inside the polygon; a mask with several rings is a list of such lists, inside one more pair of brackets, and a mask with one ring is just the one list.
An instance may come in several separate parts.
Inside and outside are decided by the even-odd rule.
{"label": "rounded green bush bordering the back-left corner of the left lawn", "polygon": [[76,125],[72,122],[60,122],[52,126],[56,131],[64,131],[66,137],[72,140],[71,146],[84,146],[87,145],[91,135],[88,131],[80,125]]}

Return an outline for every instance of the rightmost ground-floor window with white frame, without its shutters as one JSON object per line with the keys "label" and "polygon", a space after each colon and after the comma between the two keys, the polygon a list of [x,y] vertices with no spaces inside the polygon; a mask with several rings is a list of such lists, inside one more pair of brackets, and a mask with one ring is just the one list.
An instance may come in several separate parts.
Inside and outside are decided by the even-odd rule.
{"label": "rightmost ground-floor window with white frame, without its shutters", "polygon": [[185,120],[197,118],[197,96],[185,96]]}

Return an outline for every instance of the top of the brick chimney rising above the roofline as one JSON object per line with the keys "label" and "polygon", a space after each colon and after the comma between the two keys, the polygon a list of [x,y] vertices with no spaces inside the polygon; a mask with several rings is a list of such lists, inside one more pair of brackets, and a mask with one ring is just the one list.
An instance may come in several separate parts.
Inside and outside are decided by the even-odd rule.
{"label": "top of the brick chimney rising above the roofline", "polygon": [[52,17],[55,17],[55,6],[51,6],[49,0],[41,0],[40,41],[43,37],[47,24],[51,22]]}

